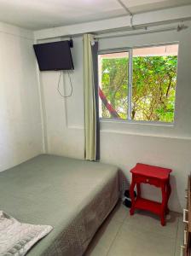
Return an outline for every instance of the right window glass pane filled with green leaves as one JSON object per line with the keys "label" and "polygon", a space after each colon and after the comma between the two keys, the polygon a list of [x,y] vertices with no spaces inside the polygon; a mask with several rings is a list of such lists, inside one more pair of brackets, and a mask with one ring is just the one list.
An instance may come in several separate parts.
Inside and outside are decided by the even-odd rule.
{"label": "right window glass pane filled with green leaves", "polygon": [[131,119],[173,122],[178,44],[133,49]]}

